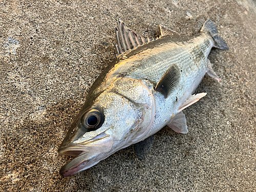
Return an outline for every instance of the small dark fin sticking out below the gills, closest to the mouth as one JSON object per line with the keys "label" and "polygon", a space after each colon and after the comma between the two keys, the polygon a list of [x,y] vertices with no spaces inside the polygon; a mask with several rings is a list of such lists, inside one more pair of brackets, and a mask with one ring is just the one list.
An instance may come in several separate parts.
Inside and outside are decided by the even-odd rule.
{"label": "small dark fin sticking out below the gills, closest to the mouth", "polygon": [[146,138],[143,141],[140,141],[134,144],[134,149],[139,159],[141,160],[144,159],[146,154],[150,151],[153,143],[154,143],[154,135]]}

